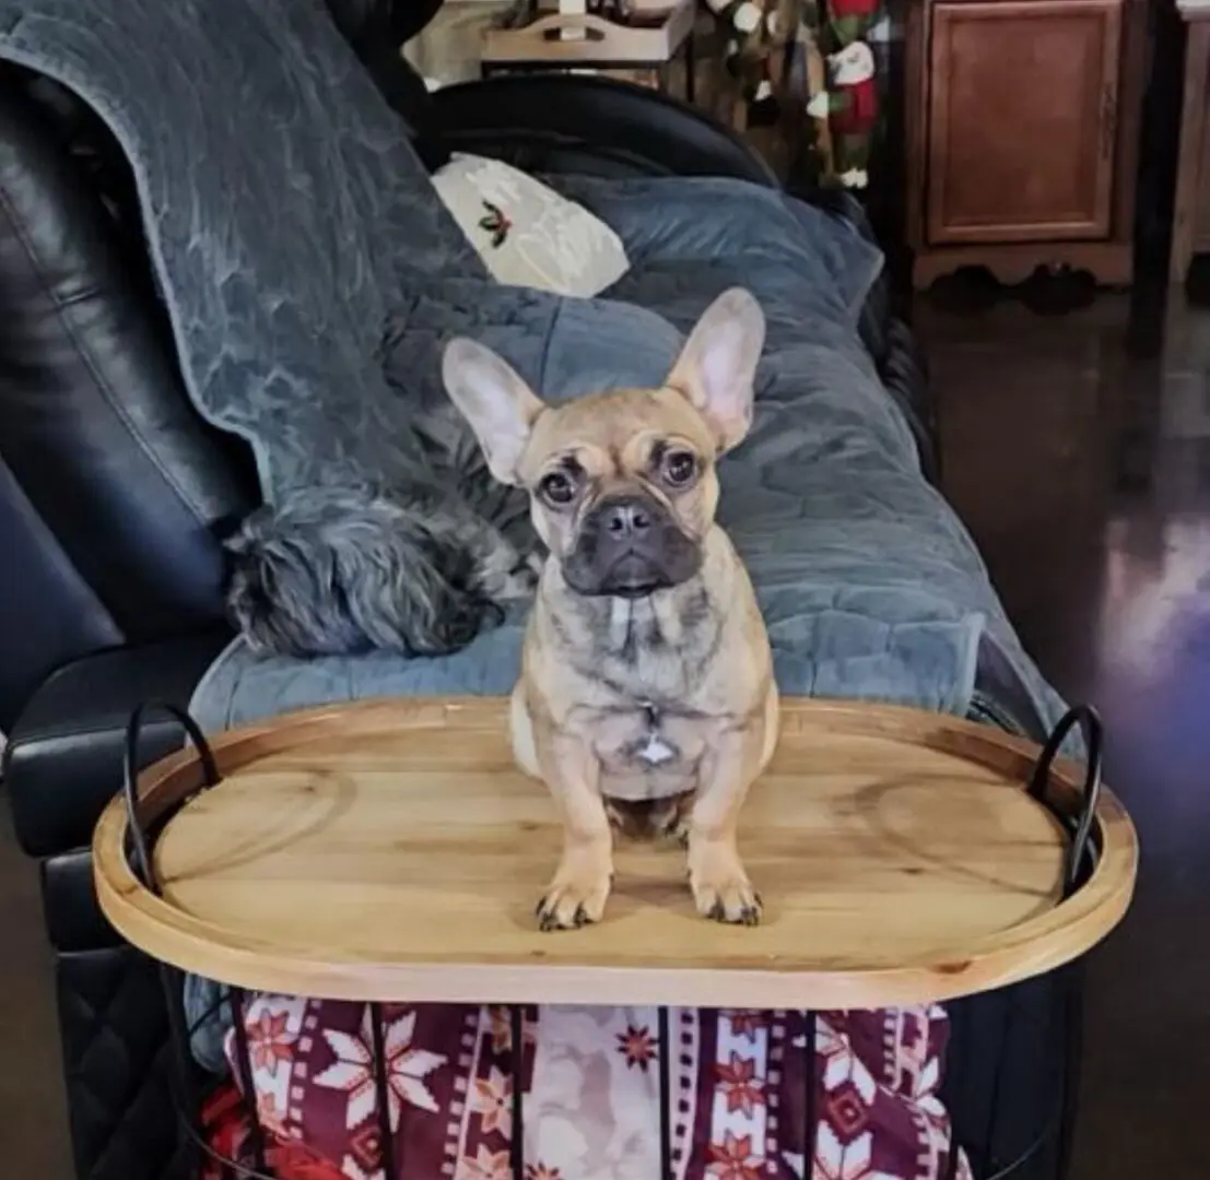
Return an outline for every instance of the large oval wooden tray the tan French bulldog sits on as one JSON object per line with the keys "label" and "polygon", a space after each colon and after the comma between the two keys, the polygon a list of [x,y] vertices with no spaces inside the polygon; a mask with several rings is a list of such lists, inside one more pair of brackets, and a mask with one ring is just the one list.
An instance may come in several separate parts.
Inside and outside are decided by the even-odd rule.
{"label": "large oval wooden tray the tan French bulldog sits on", "polygon": [[[871,1008],[1049,971],[1124,914],[1137,844],[1106,791],[1095,869],[1062,901],[1067,837],[1024,789],[1037,747],[912,710],[790,700],[741,851],[757,927],[693,910],[680,849],[620,844],[605,920],[541,933],[559,827],[512,765],[502,700],[296,713],[139,780],[162,895],[97,826],[100,904],[132,943],[249,989],[348,1000]],[[1060,759],[1050,796],[1079,806]],[[188,799],[180,805],[183,799]]]}

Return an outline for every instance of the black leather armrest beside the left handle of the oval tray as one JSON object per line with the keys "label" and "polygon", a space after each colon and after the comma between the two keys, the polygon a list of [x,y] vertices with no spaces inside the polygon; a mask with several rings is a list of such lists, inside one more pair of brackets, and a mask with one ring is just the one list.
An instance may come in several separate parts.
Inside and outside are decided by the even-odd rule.
{"label": "black leather armrest beside the left handle of the oval tray", "polygon": [[[122,783],[122,747],[134,707],[149,699],[188,705],[227,642],[225,631],[115,648],[67,664],[34,693],[5,751],[13,826],[30,856],[86,845]],[[184,740],[171,718],[148,718],[143,764]]]}

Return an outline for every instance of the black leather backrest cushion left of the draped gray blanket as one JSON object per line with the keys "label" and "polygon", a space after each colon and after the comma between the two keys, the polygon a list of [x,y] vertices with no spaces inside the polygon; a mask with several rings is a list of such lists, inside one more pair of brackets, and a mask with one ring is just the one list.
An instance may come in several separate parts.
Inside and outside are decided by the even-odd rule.
{"label": "black leather backrest cushion left of the draped gray blanket", "polygon": [[221,618],[218,533],[257,501],[242,446],[185,395],[142,241],[83,162],[97,140],[69,131],[5,71],[0,456],[123,635],[150,638]]}

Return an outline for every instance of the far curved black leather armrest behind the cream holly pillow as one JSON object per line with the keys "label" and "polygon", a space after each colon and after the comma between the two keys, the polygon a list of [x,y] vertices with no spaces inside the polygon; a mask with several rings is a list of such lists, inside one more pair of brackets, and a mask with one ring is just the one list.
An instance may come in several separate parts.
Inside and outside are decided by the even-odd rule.
{"label": "far curved black leather armrest behind the cream holly pillow", "polygon": [[[427,138],[451,151],[508,156],[543,170],[549,156],[615,157],[620,172],[733,177],[777,187],[765,160],[718,120],[667,94],[590,75],[509,74],[442,87]],[[547,170],[567,170],[551,168]],[[589,168],[586,170],[597,170]]]}

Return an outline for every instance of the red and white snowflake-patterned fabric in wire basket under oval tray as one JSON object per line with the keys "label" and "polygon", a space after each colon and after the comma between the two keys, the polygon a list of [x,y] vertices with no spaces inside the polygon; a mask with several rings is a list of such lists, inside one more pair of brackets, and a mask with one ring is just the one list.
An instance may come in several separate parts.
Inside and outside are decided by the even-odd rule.
{"label": "red and white snowflake-patterned fabric in wire basket under oval tray", "polygon": [[[369,1018],[357,1003],[263,995],[248,1005],[255,1104],[280,1180],[511,1180],[507,1010],[385,1006],[393,1178]],[[673,1010],[669,1028],[676,1180],[801,1180],[808,1110],[811,1180],[946,1175],[943,1008],[818,1014],[809,1103],[803,1013]],[[543,1007],[524,1029],[526,1180],[658,1176],[656,1010]],[[248,1163],[249,1120],[231,1087],[207,1118],[214,1149]],[[961,1156],[957,1176],[970,1180]]]}

